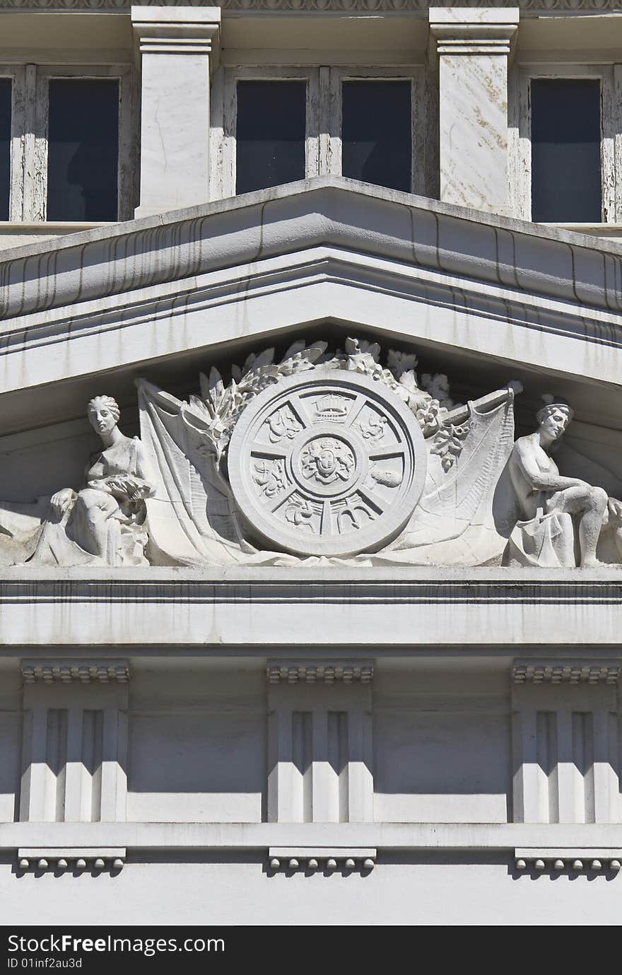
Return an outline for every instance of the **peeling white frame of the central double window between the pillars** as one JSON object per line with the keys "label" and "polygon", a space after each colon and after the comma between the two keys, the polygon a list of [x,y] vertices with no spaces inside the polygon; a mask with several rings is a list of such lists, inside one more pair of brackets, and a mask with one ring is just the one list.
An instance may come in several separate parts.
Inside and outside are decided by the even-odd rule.
{"label": "peeling white frame of the central double window between the pillars", "polygon": [[436,144],[430,126],[426,69],[406,66],[246,66],[222,67],[212,84],[210,199],[236,195],[236,125],[238,81],[307,82],[305,178],[341,176],[341,83],[409,81],[411,161],[410,192],[431,196]]}

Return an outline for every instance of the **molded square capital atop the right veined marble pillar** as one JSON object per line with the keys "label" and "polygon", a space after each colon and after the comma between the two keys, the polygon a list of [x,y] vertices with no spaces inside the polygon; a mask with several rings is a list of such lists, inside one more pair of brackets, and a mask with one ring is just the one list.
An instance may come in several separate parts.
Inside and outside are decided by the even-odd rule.
{"label": "molded square capital atop the right veined marble pillar", "polygon": [[518,7],[430,7],[430,36],[439,55],[508,55]]}

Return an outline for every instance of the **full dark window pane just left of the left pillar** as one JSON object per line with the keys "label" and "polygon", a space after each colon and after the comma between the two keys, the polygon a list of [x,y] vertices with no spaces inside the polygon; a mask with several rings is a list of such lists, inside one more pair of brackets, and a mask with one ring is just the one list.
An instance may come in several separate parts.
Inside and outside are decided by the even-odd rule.
{"label": "full dark window pane just left of the left pillar", "polygon": [[118,219],[119,82],[50,81],[48,219]]}

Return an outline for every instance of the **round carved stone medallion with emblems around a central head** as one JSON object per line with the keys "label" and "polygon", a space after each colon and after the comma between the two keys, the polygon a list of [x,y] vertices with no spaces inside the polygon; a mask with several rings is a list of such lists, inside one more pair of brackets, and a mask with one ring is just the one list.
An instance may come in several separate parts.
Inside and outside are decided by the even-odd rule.
{"label": "round carved stone medallion with emblems around a central head", "polygon": [[423,490],[426,449],[388,387],[324,367],[253,399],[228,465],[237,503],[270,545],[351,556],[381,548],[406,525]]}

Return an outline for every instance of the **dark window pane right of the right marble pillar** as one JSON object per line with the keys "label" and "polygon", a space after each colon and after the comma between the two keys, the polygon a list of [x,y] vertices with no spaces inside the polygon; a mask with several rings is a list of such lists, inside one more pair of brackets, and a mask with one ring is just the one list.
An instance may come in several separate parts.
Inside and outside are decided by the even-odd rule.
{"label": "dark window pane right of the right marble pillar", "polygon": [[599,81],[531,82],[531,219],[603,219]]}

